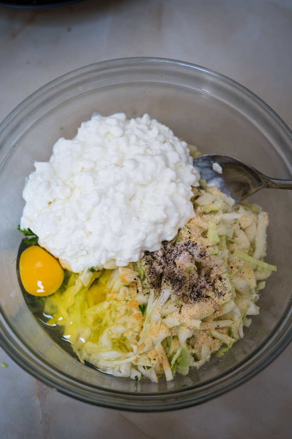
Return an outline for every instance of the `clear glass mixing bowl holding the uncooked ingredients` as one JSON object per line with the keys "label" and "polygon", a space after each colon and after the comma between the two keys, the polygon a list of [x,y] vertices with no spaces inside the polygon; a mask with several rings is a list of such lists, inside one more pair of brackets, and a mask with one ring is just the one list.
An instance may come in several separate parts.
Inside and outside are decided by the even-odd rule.
{"label": "clear glass mixing bowl holding the uncooked ingredients", "polygon": [[292,179],[292,132],[243,86],[197,65],[155,58],[104,61],[61,76],[29,96],[0,126],[1,345],[26,371],[67,395],[105,407],[159,411],[188,407],[239,385],[288,344],[291,320],[292,193],[255,194],[269,213],[268,262],[278,266],[245,337],[201,369],[158,385],[116,378],[79,363],[41,329],[16,274],[16,230],[25,177],[47,161],[59,137],[72,138],[93,112],[149,113],[203,153],[233,155],[267,175]]}

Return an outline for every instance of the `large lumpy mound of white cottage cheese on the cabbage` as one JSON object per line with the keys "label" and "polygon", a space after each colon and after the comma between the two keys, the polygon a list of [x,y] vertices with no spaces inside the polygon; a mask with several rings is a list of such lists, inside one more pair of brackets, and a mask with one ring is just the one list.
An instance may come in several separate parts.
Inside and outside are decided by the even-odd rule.
{"label": "large lumpy mound of white cottage cheese on the cabbage", "polygon": [[157,120],[94,114],[49,162],[35,162],[21,228],[74,272],[126,266],[194,216],[198,180],[187,144]]}

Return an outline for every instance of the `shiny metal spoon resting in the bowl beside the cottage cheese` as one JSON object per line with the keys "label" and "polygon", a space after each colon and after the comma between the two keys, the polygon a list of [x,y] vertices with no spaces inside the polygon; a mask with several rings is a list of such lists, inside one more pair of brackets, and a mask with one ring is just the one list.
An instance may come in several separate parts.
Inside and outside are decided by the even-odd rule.
{"label": "shiny metal spoon resting in the bowl beside the cottage cheese", "polygon": [[[213,169],[214,163],[221,166],[222,173]],[[292,189],[292,180],[267,177],[245,162],[228,155],[201,155],[194,159],[193,166],[199,170],[201,178],[207,180],[207,183],[214,180],[221,191],[231,196],[236,202],[242,201],[263,188]],[[218,166],[215,165],[215,168]]]}

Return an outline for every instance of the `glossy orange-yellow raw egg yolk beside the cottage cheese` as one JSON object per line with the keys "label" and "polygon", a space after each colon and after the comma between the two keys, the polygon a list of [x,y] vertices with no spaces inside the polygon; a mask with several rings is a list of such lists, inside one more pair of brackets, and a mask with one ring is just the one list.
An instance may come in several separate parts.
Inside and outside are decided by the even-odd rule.
{"label": "glossy orange-yellow raw egg yolk beside the cottage cheese", "polygon": [[38,245],[32,245],[21,253],[19,271],[24,288],[34,296],[55,293],[64,279],[59,261]]}

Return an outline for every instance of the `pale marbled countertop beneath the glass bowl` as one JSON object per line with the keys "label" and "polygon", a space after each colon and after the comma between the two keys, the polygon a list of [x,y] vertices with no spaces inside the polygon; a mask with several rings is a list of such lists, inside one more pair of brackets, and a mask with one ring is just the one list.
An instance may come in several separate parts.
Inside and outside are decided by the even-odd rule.
{"label": "pale marbled countertop beneath the glass bowl", "polygon": [[[51,79],[110,58],[176,58],[217,70],[292,127],[291,0],[108,0],[49,10],[0,7],[0,119]],[[137,414],[81,403],[0,350],[0,437],[180,439],[291,437],[289,346],[238,389],[186,410]]]}

